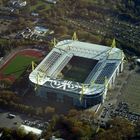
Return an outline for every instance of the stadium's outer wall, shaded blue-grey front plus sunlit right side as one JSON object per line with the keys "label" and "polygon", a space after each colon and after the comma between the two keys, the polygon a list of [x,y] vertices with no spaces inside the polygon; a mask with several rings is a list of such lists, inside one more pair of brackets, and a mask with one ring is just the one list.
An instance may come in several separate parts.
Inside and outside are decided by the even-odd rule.
{"label": "stadium's outer wall, shaded blue-grey front plus sunlit right side", "polygon": [[[116,68],[116,70],[114,71],[114,73],[112,74],[109,83],[107,85],[107,87],[105,87],[104,91],[96,94],[96,95],[84,95],[82,100],[80,101],[80,94],[75,94],[73,92],[65,92],[63,90],[56,90],[53,88],[49,88],[49,87],[45,87],[45,86],[39,86],[36,93],[37,96],[43,97],[45,100],[51,100],[51,98],[48,97],[48,93],[54,94],[55,95],[55,99],[52,99],[56,102],[64,102],[64,103],[68,103],[67,101],[65,101],[64,96],[67,96],[69,98],[72,98],[72,102],[71,104],[74,106],[79,106],[79,107],[83,107],[83,108],[88,108],[88,107],[92,107],[94,105],[97,104],[101,104],[104,102],[104,100],[106,99],[107,96],[107,91],[109,89],[112,89],[115,86],[115,79],[116,77],[119,75],[119,73],[121,73],[123,70],[123,62],[120,62],[120,64],[118,65],[118,67]],[[32,85],[34,85],[34,83],[32,83]]]}

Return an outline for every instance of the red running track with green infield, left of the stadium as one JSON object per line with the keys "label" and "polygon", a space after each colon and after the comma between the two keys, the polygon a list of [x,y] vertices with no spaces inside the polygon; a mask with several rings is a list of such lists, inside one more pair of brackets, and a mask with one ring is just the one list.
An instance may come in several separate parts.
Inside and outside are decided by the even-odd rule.
{"label": "red running track with green infield, left of the stadium", "polygon": [[22,50],[9,58],[0,69],[0,80],[8,78],[15,81],[31,66],[32,61],[42,57],[42,52],[33,49]]}

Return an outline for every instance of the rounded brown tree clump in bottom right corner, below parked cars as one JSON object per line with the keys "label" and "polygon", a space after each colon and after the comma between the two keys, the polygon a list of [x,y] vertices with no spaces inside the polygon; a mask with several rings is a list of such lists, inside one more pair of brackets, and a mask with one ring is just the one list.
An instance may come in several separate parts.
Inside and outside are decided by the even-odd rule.
{"label": "rounded brown tree clump in bottom right corner, below parked cars", "polygon": [[134,125],[128,120],[122,118],[114,118],[108,121],[109,126],[105,131],[99,132],[96,139],[100,140],[127,140],[134,136]]}

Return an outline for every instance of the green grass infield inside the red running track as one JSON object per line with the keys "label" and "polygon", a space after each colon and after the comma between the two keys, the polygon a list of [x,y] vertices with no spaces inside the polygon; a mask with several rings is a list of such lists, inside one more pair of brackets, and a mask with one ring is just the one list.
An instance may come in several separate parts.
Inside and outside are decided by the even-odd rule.
{"label": "green grass infield inside the red running track", "polygon": [[2,69],[2,73],[6,76],[14,75],[17,79],[27,69],[29,64],[36,60],[37,58],[35,57],[17,55]]}

